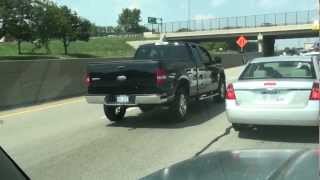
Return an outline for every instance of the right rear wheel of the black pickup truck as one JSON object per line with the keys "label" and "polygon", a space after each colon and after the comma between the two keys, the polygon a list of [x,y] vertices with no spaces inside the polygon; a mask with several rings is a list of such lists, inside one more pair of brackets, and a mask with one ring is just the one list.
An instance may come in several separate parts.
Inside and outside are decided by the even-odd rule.
{"label": "right rear wheel of the black pickup truck", "polygon": [[175,99],[171,105],[170,110],[172,111],[174,121],[182,122],[187,120],[187,114],[189,110],[189,95],[184,88],[178,89],[176,92]]}

